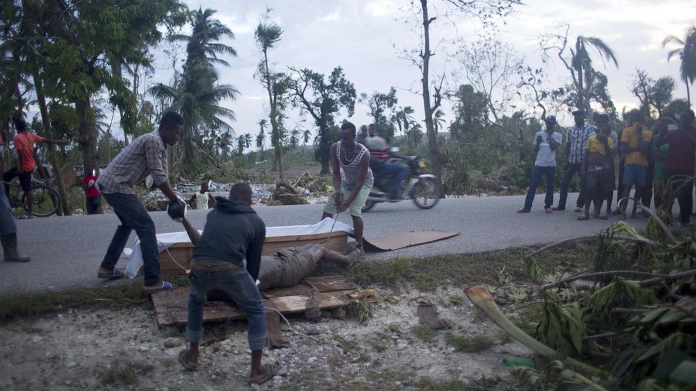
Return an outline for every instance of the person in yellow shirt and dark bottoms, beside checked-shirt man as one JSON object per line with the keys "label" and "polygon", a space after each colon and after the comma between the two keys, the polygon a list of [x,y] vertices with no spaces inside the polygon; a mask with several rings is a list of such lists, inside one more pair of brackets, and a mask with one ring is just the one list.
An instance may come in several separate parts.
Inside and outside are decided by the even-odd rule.
{"label": "person in yellow shirt and dark bottoms, beside checked-shirt man", "polygon": [[587,138],[585,154],[583,154],[583,166],[580,169],[580,177],[585,177],[587,182],[587,197],[585,198],[585,214],[578,216],[578,220],[590,218],[590,202],[594,202],[594,218],[606,220],[607,216],[601,214],[602,202],[607,196],[609,181],[611,179],[611,165],[614,159],[614,141],[609,137],[609,127],[602,127],[597,134]]}

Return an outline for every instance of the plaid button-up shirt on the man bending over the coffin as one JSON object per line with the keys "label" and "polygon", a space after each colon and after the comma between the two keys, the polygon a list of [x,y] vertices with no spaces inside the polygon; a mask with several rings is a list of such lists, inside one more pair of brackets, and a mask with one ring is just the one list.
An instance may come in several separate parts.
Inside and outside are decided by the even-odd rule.
{"label": "plaid button-up shirt on the man bending over the coffin", "polygon": [[143,182],[148,174],[158,186],[169,180],[167,148],[157,130],[125,147],[97,179],[98,189],[102,193],[135,194],[133,186]]}

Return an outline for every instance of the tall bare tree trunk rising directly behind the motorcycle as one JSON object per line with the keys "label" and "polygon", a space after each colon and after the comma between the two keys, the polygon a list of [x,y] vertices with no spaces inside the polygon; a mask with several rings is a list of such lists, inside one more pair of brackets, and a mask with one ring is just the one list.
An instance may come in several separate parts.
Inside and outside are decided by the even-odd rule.
{"label": "tall bare tree trunk rising directly behind the motorcycle", "polygon": [[[445,197],[445,192],[443,191],[442,188],[442,166],[447,163],[447,156],[440,152],[440,148],[437,145],[437,134],[434,129],[433,125],[433,114],[437,110],[438,106],[440,106],[440,98],[436,97],[436,102],[434,106],[430,106],[430,88],[429,88],[429,81],[428,81],[428,72],[429,72],[429,62],[430,62],[430,56],[432,56],[432,53],[430,52],[430,34],[429,34],[429,26],[430,23],[435,20],[435,18],[429,19],[428,18],[428,5],[427,5],[427,0],[420,0],[420,5],[422,7],[422,13],[423,13],[423,37],[424,37],[424,50],[420,54],[420,56],[423,59],[423,67],[422,67],[422,96],[423,96],[423,109],[425,111],[425,129],[427,133],[427,138],[428,138],[428,150],[430,152],[430,160],[431,160],[431,166],[432,166],[432,173],[433,175],[436,176],[436,185],[439,187],[440,191],[440,196],[442,198]],[[436,95],[439,95],[436,93]]]}

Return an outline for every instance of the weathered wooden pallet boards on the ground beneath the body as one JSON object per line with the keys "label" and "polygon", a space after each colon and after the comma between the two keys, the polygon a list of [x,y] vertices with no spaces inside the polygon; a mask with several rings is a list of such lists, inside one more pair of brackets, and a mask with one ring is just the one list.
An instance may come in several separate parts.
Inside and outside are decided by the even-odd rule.
{"label": "weathered wooden pallet boards on the ground beneath the body", "polygon": [[[319,309],[329,310],[345,305],[345,296],[358,288],[354,282],[342,276],[308,277],[303,282],[310,283],[319,291]],[[304,312],[307,309],[306,287],[295,285],[282,289],[269,289],[262,292],[264,303],[270,302],[283,314]],[[173,291],[152,294],[155,314],[159,326],[185,326],[189,287],[177,287]],[[270,306],[267,305],[267,306]],[[206,303],[203,308],[203,323],[245,319],[244,312],[237,305],[228,305],[221,301]]]}

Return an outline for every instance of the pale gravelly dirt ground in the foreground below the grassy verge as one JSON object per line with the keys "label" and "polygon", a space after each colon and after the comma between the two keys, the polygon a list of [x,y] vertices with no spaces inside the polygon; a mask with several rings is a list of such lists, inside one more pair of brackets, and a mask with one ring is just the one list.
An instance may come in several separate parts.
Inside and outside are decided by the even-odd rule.
{"label": "pale gravelly dirt ground in the foreground below the grassy verge", "polygon": [[[508,372],[502,358],[533,357],[530,349],[504,338],[459,288],[427,294],[377,289],[377,294],[383,299],[363,324],[350,315],[289,317],[301,333],[283,325],[285,346],[264,353],[265,361],[280,363],[285,376],[260,389],[415,389],[413,381],[423,377],[503,376]],[[437,305],[441,318],[453,325],[450,333],[483,335],[494,346],[478,353],[455,351],[442,330],[425,342],[413,332],[420,301]],[[246,328],[245,321],[206,325],[202,367],[186,372],[177,361],[184,328],[159,328],[151,308],[26,317],[0,326],[0,390],[258,390],[246,383],[251,358]]]}

